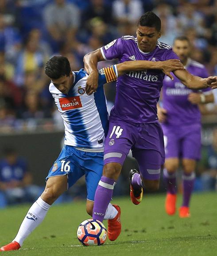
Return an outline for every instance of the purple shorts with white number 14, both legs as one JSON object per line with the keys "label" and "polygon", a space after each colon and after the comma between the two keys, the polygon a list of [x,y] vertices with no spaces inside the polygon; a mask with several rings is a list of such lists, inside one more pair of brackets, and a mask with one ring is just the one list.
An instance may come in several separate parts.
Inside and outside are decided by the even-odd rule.
{"label": "purple shorts with white number 14, both legs", "polygon": [[163,130],[160,124],[128,124],[120,120],[109,122],[105,140],[104,165],[123,165],[130,149],[145,179],[159,179],[165,160]]}

